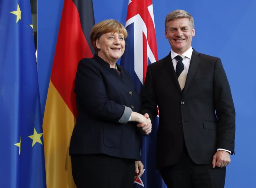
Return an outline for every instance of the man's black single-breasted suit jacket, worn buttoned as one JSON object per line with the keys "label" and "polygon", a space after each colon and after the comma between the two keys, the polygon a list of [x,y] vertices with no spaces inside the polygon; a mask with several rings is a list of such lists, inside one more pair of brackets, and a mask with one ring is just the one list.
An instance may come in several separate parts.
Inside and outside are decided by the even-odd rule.
{"label": "man's black single-breasted suit jacket, worn buttoned", "polygon": [[141,101],[151,120],[159,107],[157,167],[175,164],[184,141],[196,164],[211,164],[217,148],[234,153],[235,110],[219,58],[193,50],[183,91],[171,54],[149,65]]}

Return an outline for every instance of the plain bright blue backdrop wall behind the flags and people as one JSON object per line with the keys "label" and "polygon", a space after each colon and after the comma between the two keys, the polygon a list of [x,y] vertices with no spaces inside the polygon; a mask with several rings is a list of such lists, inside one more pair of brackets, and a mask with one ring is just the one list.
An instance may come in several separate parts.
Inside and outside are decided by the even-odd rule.
{"label": "plain bright blue backdrop wall behind the flags and people", "polygon": [[[113,18],[125,25],[128,0],[93,0],[95,23]],[[38,76],[42,112],[58,36],[63,0],[38,1]],[[227,167],[226,188],[256,187],[256,1],[153,0],[158,59],[170,52],[165,16],[184,9],[195,20],[192,47],[221,58],[236,108],[236,154]]]}

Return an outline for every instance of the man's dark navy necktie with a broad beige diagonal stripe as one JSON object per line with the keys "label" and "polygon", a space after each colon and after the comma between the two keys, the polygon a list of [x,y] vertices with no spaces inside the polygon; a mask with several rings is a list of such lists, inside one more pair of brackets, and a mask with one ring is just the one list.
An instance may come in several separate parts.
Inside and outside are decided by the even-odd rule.
{"label": "man's dark navy necktie with a broad beige diagonal stripe", "polygon": [[178,78],[178,82],[180,84],[180,89],[183,90],[186,82],[186,75],[185,75],[185,70],[184,70],[184,65],[183,65],[183,58],[185,58],[184,55],[177,55],[175,59],[177,60],[177,65],[176,65],[176,76]]}

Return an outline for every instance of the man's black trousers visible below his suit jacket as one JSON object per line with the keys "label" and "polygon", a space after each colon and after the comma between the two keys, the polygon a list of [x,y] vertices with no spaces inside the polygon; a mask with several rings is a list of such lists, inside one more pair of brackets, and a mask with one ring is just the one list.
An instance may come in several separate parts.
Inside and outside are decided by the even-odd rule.
{"label": "man's black trousers visible below his suit jacket", "polygon": [[161,167],[159,171],[168,188],[224,188],[225,184],[226,167],[194,163],[186,146],[175,165]]}

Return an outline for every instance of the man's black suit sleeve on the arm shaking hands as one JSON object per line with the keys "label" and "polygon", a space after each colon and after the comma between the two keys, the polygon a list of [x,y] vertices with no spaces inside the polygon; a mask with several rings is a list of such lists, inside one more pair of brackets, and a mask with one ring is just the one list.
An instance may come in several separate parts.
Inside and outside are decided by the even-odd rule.
{"label": "man's black suit sleeve on the arm shaking hands", "polygon": [[147,75],[141,92],[141,109],[139,112],[141,114],[148,113],[151,122],[154,121],[155,117],[158,114],[157,101],[155,97],[154,84],[150,70],[150,65],[147,68]]}

